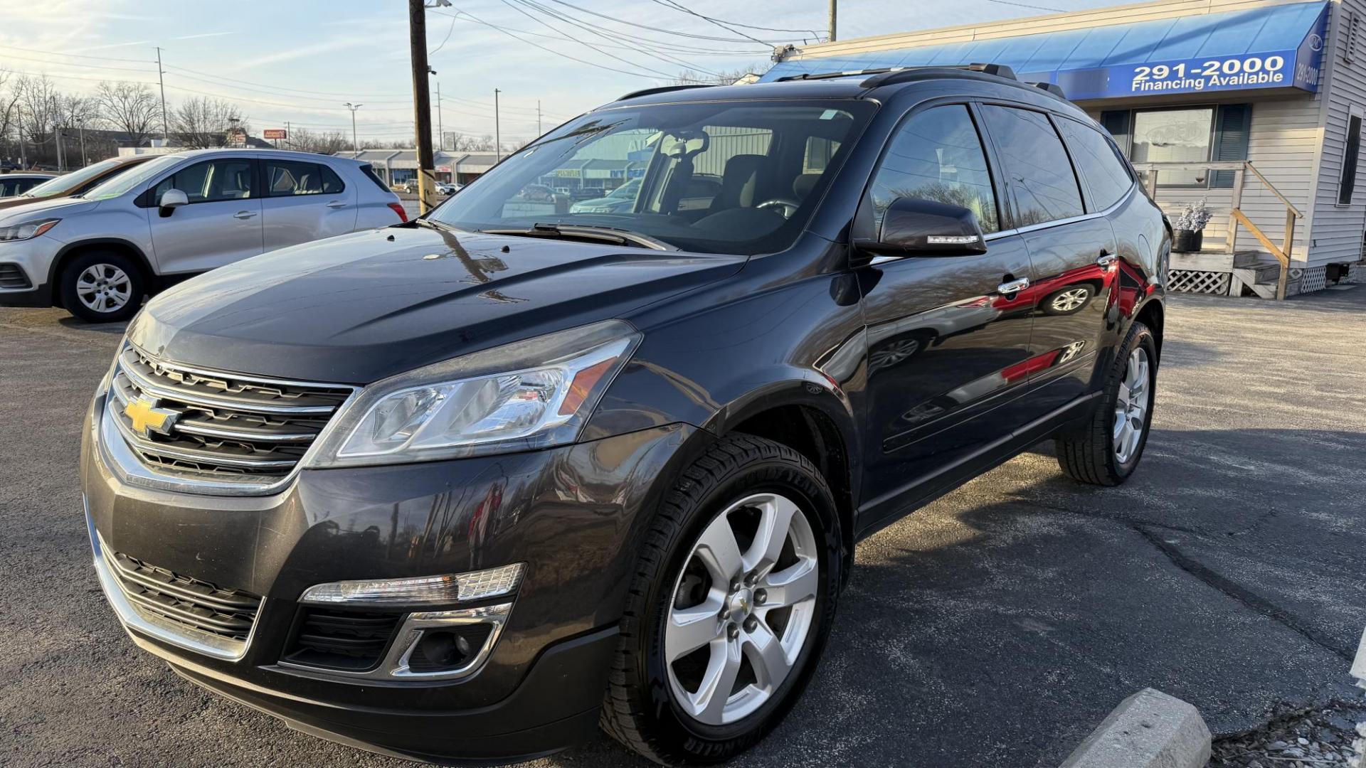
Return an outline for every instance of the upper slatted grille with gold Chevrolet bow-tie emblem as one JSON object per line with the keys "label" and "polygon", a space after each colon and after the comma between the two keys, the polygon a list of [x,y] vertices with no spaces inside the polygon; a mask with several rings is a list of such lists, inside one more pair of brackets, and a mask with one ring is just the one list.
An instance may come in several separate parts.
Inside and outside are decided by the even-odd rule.
{"label": "upper slatted grille with gold Chevrolet bow-tie emblem", "polygon": [[182,366],[130,344],[111,379],[108,407],[123,440],[156,474],[269,485],[295,470],[352,394],[337,384]]}

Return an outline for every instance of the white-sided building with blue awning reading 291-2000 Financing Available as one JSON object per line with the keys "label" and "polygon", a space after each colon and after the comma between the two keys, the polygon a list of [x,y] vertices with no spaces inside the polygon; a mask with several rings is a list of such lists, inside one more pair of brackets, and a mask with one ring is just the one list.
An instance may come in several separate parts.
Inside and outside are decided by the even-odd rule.
{"label": "white-sided building with blue awning reading 291-2000 Financing Available", "polygon": [[982,61],[1057,83],[1171,217],[1216,209],[1203,249],[1172,256],[1173,288],[1274,297],[1280,258],[1288,294],[1366,276],[1363,16],[1366,0],[1158,0],[790,48],[762,79]]}

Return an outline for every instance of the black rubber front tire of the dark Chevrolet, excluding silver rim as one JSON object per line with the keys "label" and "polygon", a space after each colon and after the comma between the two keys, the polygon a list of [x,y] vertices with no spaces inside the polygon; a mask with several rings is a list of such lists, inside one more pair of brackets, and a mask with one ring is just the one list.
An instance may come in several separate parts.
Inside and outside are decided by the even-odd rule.
{"label": "black rubber front tire of the dark Chevrolet, excluding silver rim", "polygon": [[[790,495],[811,525],[820,563],[811,625],[791,672],[757,711],[729,724],[705,724],[675,701],[664,666],[664,625],[675,582],[702,530],[732,503],[765,491]],[[791,709],[825,645],[843,567],[840,541],[831,489],[800,454],[749,435],[710,445],[680,473],[643,534],[602,702],[602,730],[667,765],[721,763],[758,743]]]}

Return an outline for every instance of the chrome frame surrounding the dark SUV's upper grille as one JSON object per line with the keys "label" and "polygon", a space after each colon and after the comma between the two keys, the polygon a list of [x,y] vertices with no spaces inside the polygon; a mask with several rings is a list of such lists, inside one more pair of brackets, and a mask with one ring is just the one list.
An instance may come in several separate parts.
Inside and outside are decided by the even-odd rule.
{"label": "chrome frame surrounding the dark SUV's upper grille", "polygon": [[[201,480],[193,477],[179,477],[172,474],[163,474],[156,471],[153,467],[148,466],[138,458],[134,448],[124,439],[123,424],[113,415],[113,409],[109,407],[111,396],[117,398],[117,387],[115,385],[120,372],[127,374],[127,369],[123,366],[123,355],[130,348],[137,348],[149,359],[156,359],[157,364],[186,373],[197,373],[202,376],[216,376],[216,377],[229,377],[239,381],[249,381],[253,384],[265,385],[284,385],[284,387],[313,387],[322,389],[350,389],[351,394],[339,403],[335,409],[328,409],[332,415],[328,420],[326,426],[324,426],[318,435],[309,444],[309,450],[299,458],[294,465],[294,469],[288,474],[283,474],[279,478],[273,478],[270,482],[261,482],[260,480]],[[130,379],[133,379],[130,376]],[[105,466],[108,466],[117,478],[128,485],[138,485],[142,488],[152,488],[156,491],[171,491],[180,493],[198,493],[204,496],[272,496],[284,492],[303,471],[305,465],[313,459],[317,452],[318,445],[322,444],[324,437],[328,436],[329,430],[337,424],[347,409],[355,402],[361,394],[361,387],[354,384],[333,384],[328,381],[296,381],[290,379],[269,379],[264,376],[246,376],[231,373],[225,370],[209,370],[202,368],[194,368],[189,365],[182,365],[178,362],[163,361],[154,355],[146,353],[135,344],[126,343],[115,355],[113,365],[108,376],[107,387],[100,392],[96,399],[96,444],[100,448],[100,456],[104,459]],[[173,395],[179,398],[179,395]],[[199,398],[202,399],[202,398]],[[225,407],[250,410],[240,407],[236,403],[225,404]],[[290,413],[301,413],[299,410],[292,410]],[[158,448],[160,451],[160,448]],[[165,452],[165,451],[161,451]]]}

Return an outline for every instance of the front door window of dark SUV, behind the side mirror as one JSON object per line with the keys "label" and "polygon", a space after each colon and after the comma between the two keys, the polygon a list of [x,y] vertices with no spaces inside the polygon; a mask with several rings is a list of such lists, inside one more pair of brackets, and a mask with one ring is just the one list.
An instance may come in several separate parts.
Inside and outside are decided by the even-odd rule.
{"label": "front door window of dark SUV, behind the side mirror", "polygon": [[982,232],[1000,219],[982,139],[967,107],[936,107],[902,123],[869,189],[874,227],[899,197],[962,205],[977,215]]}

